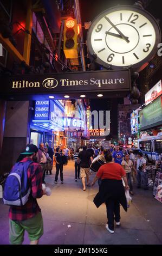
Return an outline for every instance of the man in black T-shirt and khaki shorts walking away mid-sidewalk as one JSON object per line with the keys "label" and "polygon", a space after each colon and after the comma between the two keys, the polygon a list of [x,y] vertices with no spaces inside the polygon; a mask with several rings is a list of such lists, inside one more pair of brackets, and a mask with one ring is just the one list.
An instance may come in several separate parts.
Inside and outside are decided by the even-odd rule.
{"label": "man in black T-shirt and khaki shorts walking away mid-sidewalk", "polygon": [[80,163],[81,171],[80,177],[82,179],[83,191],[86,191],[86,180],[87,186],[90,185],[89,177],[90,177],[90,163],[93,161],[92,154],[87,151],[87,147],[83,146],[83,150],[79,153],[77,157],[77,163]]}

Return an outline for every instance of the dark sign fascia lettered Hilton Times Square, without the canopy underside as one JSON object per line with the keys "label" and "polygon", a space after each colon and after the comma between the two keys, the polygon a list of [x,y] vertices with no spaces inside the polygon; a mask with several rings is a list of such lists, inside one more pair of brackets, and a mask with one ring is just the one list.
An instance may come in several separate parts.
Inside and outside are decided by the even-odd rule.
{"label": "dark sign fascia lettered Hilton Times Square, without the canopy underside", "polygon": [[61,94],[64,92],[129,91],[131,77],[129,70],[107,70],[69,72],[59,74],[30,74],[3,77],[5,87],[0,88],[2,95],[8,94]]}

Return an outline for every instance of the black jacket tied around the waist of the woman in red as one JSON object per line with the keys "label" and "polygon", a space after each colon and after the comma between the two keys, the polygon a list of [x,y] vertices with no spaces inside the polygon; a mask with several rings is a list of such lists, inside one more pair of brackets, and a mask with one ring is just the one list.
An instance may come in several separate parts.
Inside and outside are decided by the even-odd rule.
{"label": "black jacket tied around the waist of the woman in red", "polygon": [[122,180],[103,179],[99,192],[96,194],[93,202],[96,207],[99,208],[99,206],[105,203],[109,198],[115,201],[118,200],[124,210],[127,211],[127,200]]}

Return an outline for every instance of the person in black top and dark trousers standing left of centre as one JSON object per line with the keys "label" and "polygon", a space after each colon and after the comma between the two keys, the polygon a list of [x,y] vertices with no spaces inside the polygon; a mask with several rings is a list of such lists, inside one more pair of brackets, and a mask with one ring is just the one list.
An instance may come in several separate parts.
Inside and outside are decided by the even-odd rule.
{"label": "person in black top and dark trousers standing left of centre", "polygon": [[58,176],[59,176],[59,170],[60,170],[60,180],[61,184],[63,184],[63,155],[61,153],[60,148],[56,148],[55,153],[55,162],[56,162],[56,175],[55,175],[55,184],[57,184]]}

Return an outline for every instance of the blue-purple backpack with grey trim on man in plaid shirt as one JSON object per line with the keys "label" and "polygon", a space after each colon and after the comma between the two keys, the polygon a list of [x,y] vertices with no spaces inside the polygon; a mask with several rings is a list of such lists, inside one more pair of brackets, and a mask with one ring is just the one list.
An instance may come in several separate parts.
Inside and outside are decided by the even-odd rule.
{"label": "blue-purple backpack with grey trim on man in plaid shirt", "polygon": [[31,191],[27,170],[31,163],[32,160],[18,162],[12,167],[4,185],[4,204],[21,206],[27,203]]}

